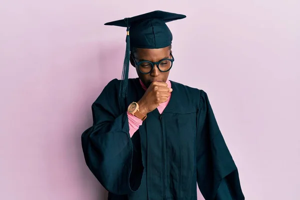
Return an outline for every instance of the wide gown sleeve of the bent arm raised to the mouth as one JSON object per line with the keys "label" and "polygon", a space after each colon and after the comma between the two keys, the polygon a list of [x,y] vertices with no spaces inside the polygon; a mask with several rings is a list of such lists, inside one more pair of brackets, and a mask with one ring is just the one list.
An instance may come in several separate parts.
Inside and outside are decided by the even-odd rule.
{"label": "wide gown sleeve of the bent arm raised to the mouth", "polygon": [[86,165],[103,187],[128,194],[140,186],[143,165],[140,139],[130,138],[125,106],[118,98],[118,80],[110,81],[92,104],[93,125],[81,135]]}

